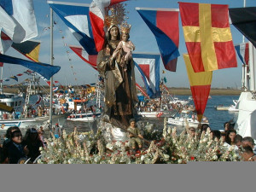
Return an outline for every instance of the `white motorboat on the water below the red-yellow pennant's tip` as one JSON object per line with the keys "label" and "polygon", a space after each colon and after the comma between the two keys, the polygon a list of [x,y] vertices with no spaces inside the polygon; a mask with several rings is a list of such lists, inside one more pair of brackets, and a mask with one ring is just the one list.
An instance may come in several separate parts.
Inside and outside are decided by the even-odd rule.
{"label": "white motorboat on the water below the red-yellow pennant's tip", "polygon": [[[183,112],[180,113],[179,116],[175,118],[168,118],[167,123],[169,125],[186,126],[187,125],[186,121],[188,122],[189,127],[190,126],[197,127],[200,124],[200,122],[197,119],[195,119],[195,117],[192,118],[189,116],[189,113],[183,113]],[[203,118],[201,120],[201,124],[209,125],[209,122],[206,118],[205,119]]]}

